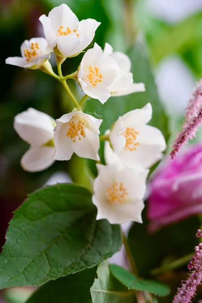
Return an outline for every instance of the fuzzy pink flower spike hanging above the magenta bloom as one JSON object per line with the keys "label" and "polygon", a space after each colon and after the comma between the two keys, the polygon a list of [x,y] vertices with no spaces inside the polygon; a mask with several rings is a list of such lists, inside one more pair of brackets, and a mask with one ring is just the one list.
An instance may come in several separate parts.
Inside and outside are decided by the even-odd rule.
{"label": "fuzzy pink flower spike hanging above the magenta bloom", "polygon": [[183,129],[175,139],[173,143],[173,149],[171,151],[171,159],[174,159],[178,151],[188,139],[193,139],[198,128],[202,124],[202,79],[199,80],[196,85],[193,96],[189,101],[186,113],[186,119],[183,124]]}

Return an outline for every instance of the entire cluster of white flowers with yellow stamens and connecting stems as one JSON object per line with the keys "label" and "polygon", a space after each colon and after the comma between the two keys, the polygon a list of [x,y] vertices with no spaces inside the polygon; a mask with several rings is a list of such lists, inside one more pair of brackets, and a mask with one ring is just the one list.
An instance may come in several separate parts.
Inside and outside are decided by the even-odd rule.
{"label": "entire cluster of white flowers with yellow stamens and connecting stems", "polygon": [[[111,96],[122,96],[144,91],[143,83],[133,83],[130,59],[113,52],[105,44],[104,50],[92,42],[99,22],[93,19],[79,22],[70,8],[63,4],[39,18],[45,38],[32,38],[21,45],[22,57],[12,57],[7,64],[40,69],[58,79],[74,102],[74,110],[56,121],[34,109],[18,114],[14,127],[19,136],[30,144],[22,157],[25,170],[44,170],[55,160],[70,160],[73,153],[82,158],[99,161],[99,141],[106,140],[107,165],[97,164],[98,176],[93,184],[92,202],[97,207],[97,219],[106,218],[111,224],[128,221],[142,222],[143,197],[148,168],[162,158],[166,143],[161,131],[147,125],[152,108],[130,111],[119,117],[111,130],[99,138],[102,119],[82,111],[84,100],[91,97],[102,104]],[[85,53],[76,72],[63,76],[61,64],[68,57]],[[55,53],[58,75],[49,58]],[[67,80],[74,79],[85,93],[77,101]],[[109,101],[110,102],[110,101]]]}

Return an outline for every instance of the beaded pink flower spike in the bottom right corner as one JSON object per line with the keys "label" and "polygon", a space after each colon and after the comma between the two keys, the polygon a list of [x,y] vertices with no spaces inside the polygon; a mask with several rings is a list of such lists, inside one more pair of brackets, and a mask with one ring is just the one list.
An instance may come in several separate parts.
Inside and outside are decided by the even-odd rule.
{"label": "beaded pink flower spike in the bottom right corner", "polygon": [[[200,229],[198,229],[196,234],[196,237],[199,236],[201,236]],[[182,286],[178,288],[178,292],[173,299],[173,303],[189,303],[192,301],[192,298],[195,296],[196,287],[201,283],[202,280],[201,266],[202,243],[199,243],[197,246],[195,246],[195,255],[187,266],[187,268],[192,270],[192,272],[186,282],[182,283]]]}

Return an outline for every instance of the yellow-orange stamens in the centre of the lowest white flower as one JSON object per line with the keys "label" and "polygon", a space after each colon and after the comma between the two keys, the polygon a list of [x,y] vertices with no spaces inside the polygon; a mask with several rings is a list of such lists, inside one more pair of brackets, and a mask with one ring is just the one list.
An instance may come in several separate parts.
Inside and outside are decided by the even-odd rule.
{"label": "yellow-orange stamens in the centre of the lowest white flower", "polygon": [[122,182],[115,182],[107,188],[107,203],[108,204],[124,204],[127,202],[128,192]]}

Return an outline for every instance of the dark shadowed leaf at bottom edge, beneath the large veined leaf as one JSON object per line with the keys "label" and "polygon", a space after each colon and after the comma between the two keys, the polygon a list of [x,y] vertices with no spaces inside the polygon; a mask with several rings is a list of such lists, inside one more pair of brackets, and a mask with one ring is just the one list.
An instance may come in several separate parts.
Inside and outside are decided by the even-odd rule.
{"label": "dark shadowed leaf at bottom edge, beneath the large veined leaf", "polygon": [[49,281],[42,285],[26,303],[90,303],[90,287],[96,276],[96,268]]}

